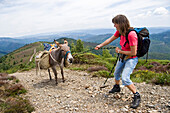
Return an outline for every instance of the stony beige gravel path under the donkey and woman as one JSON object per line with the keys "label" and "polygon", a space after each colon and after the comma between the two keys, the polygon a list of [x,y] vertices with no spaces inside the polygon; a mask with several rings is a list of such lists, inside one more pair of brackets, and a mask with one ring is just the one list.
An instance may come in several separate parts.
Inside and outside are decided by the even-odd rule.
{"label": "stony beige gravel path under the donkey and woman", "polygon": [[133,94],[126,87],[121,85],[120,93],[107,93],[114,84],[113,78],[101,90],[105,78],[64,69],[63,83],[58,73],[57,86],[53,74],[53,80],[49,80],[47,70],[41,71],[41,76],[36,76],[35,69],[10,75],[16,76],[28,90],[24,97],[35,107],[34,113],[170,113],[170,86],[135,83],[142,102],[132,109],[129,104]]}

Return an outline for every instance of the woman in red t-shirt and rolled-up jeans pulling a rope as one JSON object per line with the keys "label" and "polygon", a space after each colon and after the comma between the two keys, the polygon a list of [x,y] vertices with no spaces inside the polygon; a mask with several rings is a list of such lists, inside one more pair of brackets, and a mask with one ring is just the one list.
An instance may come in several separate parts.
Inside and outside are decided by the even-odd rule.
{"label": "woman in red t-shirt and rolled-up jeans pulling a rope", "polygon": [[[124,54],[127,57],[127,59],[121,59],[118,60],[116,67],[115,67],[115,85],[109,91],[109,93],[115,93],[120,92],[120,75],[122,74],[122,83],[126,87],[128,87],[134,94],[133,102],[131,103],[131,108],[137,108],[140,103],[140,94],[136,91],[136,88],[132,81],[130,80],[130,74],[133,72],[134,68],[136,67],[136,64],[138,63],[138,57],[137,54],[137,34],[135,31],[131,31],[128,34],[128,40],[129,43],[126,43],[126,33],[128,33],[130,27],[129,20],[124,15],[117,15],[112,19],[112,22],[114,23],[114,27],[116,27],[116,33],[111,36],[109,39],[104,41],[103,43],[97,45],[95,47],[96,50],[99,48],[111,43],[115,39],[117,39],[120,36],[120,45],[121,49],[116,47],[115,51],[116,53]],[[125,44],[125,45],[124,45]]]}

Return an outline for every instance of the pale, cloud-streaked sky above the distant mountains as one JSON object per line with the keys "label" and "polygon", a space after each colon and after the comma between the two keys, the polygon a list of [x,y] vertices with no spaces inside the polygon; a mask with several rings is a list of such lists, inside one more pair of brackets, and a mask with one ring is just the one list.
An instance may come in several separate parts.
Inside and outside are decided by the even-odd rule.
{"label": "pale, cloud-streaked sky above the distant mountains", "polygon": [[117,14],[134,27],[170,27],[170,0],[0,0],[0,37],[113,28]]}

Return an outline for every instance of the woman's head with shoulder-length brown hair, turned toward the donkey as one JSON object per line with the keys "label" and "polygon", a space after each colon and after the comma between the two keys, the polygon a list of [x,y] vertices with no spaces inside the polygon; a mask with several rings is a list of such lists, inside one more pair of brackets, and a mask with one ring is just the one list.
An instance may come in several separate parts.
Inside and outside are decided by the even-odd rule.
{"label": "woman's head with shoulder-length brown hair, turned toward the donkey", "polygon": [[112,19],[112,22],[115,24],[115,27],[119,33],[125,36],[130,27],[130,23],[127,17],[125,15],[117,15]]}

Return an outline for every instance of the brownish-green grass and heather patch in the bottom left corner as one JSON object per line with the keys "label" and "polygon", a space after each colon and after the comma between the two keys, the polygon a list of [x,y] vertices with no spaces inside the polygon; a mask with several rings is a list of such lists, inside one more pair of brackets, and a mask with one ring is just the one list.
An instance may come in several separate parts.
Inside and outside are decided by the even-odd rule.
{"label": "brownish-green grass and heather patch in the bottom left corner", "polygon": [[27,93],[24,88],[9,90],[8,88],[19,83],[18,79],[13,80],[8,84],[1,85],[5,89],[0,91],[0,112],[1,113],[31,113],[35,108],[31,105],[28,99],[21,98],[21,94]]}

